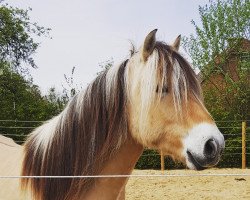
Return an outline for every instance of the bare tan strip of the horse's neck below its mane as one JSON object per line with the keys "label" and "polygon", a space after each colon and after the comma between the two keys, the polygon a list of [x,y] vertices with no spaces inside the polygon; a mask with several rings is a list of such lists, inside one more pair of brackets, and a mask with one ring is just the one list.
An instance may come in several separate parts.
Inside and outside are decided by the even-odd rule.
{"label": "bare tan strip of the horse's neck below its mane", "polygon": [[[101,175],[129,175],[142,154],[143,147],[131,137],[121,146],[118,152],[104,166]],[[86,194],[84,199],[120,199],[124,192],[127,177],[99,178],[94,187]],[[122,198],[121,198],[122,199]]]}

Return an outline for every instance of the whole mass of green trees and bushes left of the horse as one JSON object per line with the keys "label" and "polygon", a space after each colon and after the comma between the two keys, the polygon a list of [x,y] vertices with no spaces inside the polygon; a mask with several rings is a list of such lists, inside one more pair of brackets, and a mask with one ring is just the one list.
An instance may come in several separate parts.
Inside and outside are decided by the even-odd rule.
{"label": "whole mass of green trees and bushes left of the horse", "polygon": [[0,4],[0,133],[21,141],[39,125],[29,121],[47,120],[62,108],[41,95],[28,71],[36,68],[33,55],[39,43],[33,37],[46,36],[49,29],[31,22],[30,10]]}

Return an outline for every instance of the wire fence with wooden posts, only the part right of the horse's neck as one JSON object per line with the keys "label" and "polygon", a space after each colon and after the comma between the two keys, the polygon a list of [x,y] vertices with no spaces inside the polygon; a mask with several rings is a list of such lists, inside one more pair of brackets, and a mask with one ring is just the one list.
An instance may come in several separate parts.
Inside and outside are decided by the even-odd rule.
{"label": "wire fence with wooden posts, only the part right of the horse's neck", "polygon": [[[225,151],[219,168],[250,167],[250,120],[242,121],[217,121],[220,131],[226,141]],[[174,162],[169,157],[163,157],[160,153],[146,149],[140,157],[137,168],[139,169],[173,169],[185,168],[181,163]]]}

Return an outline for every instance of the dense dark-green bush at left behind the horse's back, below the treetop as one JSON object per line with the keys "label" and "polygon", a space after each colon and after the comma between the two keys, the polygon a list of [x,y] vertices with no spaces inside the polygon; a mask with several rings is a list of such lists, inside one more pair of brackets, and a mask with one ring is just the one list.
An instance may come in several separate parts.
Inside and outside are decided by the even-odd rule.
{"label": "dense dark-green bush at left behind the horse's back, below the treetop", "polygon": [[57,115],[61,104],[54,101],[52,92],[49,95],[42,96],[37,85],[5,66],[0,74],[0,134],[23,141],[32,127],[41,124],[34,121]]}

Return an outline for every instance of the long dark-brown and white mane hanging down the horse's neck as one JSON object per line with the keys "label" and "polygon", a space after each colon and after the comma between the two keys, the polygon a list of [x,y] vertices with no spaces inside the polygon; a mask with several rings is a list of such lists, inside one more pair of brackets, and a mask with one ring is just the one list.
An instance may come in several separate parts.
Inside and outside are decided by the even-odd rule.
{"label": "long dark-brown and white mane hanging down the horse's neck", "polygon": [[[110,78],[106,71],[84,93],[72,99],[59,115],[46,148],[38,142],[46,128],[35,131],[28,138],[23,176],[100,173],[101,166],[126,140],[128,133],[124,82],[126,63],[119,66],[117,74],[114,74],[115,80],[109,83],[110,92],[106,90],[107,78]],[[80,193],[87,192],[93,183],[94,179],[23,179],[22,188],[30,188],[37,200],[79,199]]]}

